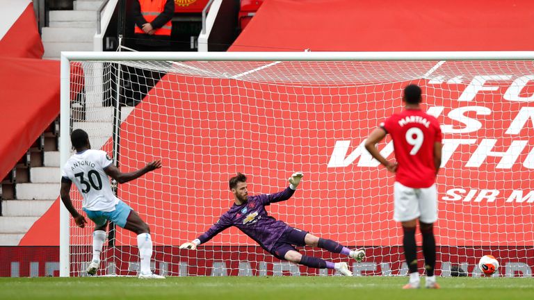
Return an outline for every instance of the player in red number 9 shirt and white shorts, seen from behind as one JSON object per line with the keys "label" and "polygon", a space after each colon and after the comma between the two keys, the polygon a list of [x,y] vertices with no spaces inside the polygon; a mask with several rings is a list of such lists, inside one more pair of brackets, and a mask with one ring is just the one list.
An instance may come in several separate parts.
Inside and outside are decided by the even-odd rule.
{"label": "player in red number 9 shirt and white shorts, seen from behind", "polygon": [[[435,179],[442,163],[442,131],[435,117],[423,112],[421,88],[408,85],[403,92],[405,109],[387,118],[365,142],[365,148],[390,172],[395,173],[394,219],[403,225],[403,246],[410,281],[403,288],[419,288],[415,244],[416,222],[423,235],[426,288],[439,288],[434,276],[436,242],[433,224],[437,220]],[[375,144],[389,133],[397,163],[384,158]]]}

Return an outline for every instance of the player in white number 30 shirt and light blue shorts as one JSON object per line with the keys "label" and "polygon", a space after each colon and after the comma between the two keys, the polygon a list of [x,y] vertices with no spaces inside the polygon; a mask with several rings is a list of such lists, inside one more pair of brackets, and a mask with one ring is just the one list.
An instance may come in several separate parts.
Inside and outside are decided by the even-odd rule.
{"label": "player in white number 30 shirt and light blue shorts", "polygon": [[154,160],[135,172],[122,173],[113,165],[113,161],[105,151],[91,149],[89,137],[85,131],[81,129],[72,131],[70,140],[76,153],[67,160],[62,169],[60,196],[76,225],[81,228],[85,227],[86,218],[72,206],[69,195],[74,182],[83,196],[82,210],[92,222],[95,222],[95,231],[92,233],[92,260],[87,273],[94,275],[100,267],[100,253],[106,240],[106,226],[111,221],[137,233],[141,261],[139,278],[165,278],[153,274],[150,270],[152,239],[149,226],[130,206],[115,197],[108,178],[110,176],[118,183],[132,181],[147,172],[161,168],[161,160]]}

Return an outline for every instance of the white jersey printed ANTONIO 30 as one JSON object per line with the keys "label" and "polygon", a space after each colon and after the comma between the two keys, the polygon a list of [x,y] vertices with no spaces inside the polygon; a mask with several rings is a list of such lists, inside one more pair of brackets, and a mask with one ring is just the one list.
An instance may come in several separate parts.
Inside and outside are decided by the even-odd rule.
{"label": "white jersey printed ANTONIO 30", "polygon": [[74,182],[83,196],[82,207],[86,210],[113,211],[119,199],[111,190],[108,175],[104,172],[112,163],[105,151],[81,151],[67,160],[61,180]]}

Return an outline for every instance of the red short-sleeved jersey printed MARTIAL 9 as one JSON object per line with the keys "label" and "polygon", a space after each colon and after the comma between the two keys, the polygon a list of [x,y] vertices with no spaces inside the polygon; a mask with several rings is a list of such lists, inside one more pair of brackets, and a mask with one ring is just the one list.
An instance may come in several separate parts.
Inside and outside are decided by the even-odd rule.
{"label": "red short-sleeved jersey printed MARTIAL 9", "polygon": [[434,184],[434,143],[442,142],[437,119],[420,109],[405,109],[391,115],[381,127],[393,139],[398,163],[396,181],[409,188]]}

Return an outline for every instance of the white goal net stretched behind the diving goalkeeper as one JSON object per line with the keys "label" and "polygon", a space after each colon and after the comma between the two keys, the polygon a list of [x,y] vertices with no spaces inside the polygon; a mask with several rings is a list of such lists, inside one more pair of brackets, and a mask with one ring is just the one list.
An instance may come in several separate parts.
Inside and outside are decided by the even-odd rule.
{"label": "white goal net stretched behind the diving goalkeeper", "polygon": [[[62,99],[62,125],[70,124],[61,136],[63,163],[72,154],[68,133],[74,128],[88,131],[92,148],[107,151],[122,172],[161,158],[161,169],[117,188],[118,197],[150,226],[157,274],[334,274],[277,260],[236,228],[196,251],[179,249],[232,206],[228,180],[237,172],[248,176],[249,194],[267,194],[283,190],[287,178],[302,171],[293,197],[268,206],[268,213],[351,249],[365,247],[367,258],[356,263],[318,248],[298,249],[347,262],[355,275],[402,276],[407,267],[402,228],[392,219],[394,175],[363,143],[403,109],[402,90],[416,83],[423,89],[423,109],[437,117],[444,133],[437,275],[451,276],[451,267],[460,266],[468,276],[480,276],[478,258],[492,254],[501,263],[496,276],[531,276],[533,60],[369,60],[357,53],[349,53],[355,60],[337,60],[314,54],[318,60],[288,61],[273,53],[233,53],[233,61],[225,54],[76,56],[70,61],[83,67],[83,87],[77,88],[83,97]],[[247,55],[252,59],[244,60]],[[378,148],[394,159],[389,136]],[[79,194],[72,197],[81,210]],[[63,274],[67,262],[67,275],[85,276],[92,224],[64,224],[69,238],[62,244]],[[136,275],[136,235],[122,228],[108,235],[97,274]],[[419,231],[416,240],[420,246]],[[421,247],[418,258],[422,273]]]}

